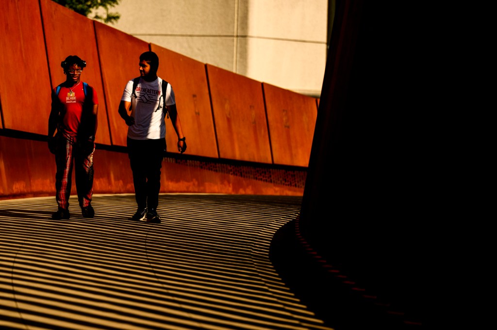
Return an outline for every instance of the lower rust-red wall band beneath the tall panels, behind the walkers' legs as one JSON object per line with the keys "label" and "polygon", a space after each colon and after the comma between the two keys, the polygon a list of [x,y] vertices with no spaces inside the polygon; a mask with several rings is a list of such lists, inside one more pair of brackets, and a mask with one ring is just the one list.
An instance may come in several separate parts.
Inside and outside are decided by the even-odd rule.
{"label": "lower rust-red wall band beneath the tall panels, behind the walkers' legs", "polygon": [[[0,199],[54,196],[55,205],[54,157],[45,141],[0,135]],[[95,194],[134,192],[125,152],[97,149],[93,162]],[[305,171],[167,157],[161,192],[301,196],[305,178]]]}

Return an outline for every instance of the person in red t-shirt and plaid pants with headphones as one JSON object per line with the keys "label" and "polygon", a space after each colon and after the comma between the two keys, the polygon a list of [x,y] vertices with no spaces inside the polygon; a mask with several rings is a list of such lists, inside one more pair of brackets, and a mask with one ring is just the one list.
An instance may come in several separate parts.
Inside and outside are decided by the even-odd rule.
{"label": "person in red t-shirt and plaid pants with headphones", "polygon": [[95,215],[91,198],[98,98],[95,89],[81,81],[85,61],[71,55],[62,61],[61,66],[66,81],[52,90],[52,107],[48,119],[48,147],[55,155],[57,168],[55,189],[58,209],[52,214],[52,219],[71,217],[69,197],[73,164],[83,217],[92,218]]}

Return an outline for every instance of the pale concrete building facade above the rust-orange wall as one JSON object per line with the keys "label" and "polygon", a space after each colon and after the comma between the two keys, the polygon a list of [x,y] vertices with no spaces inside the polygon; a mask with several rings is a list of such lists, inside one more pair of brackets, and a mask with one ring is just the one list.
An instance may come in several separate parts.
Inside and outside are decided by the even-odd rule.
{"label": "pale concrete building facade above the rust-orange wall", "polygon": [[108,24],[197,61],[319,97],[328,0],[121,0]]}

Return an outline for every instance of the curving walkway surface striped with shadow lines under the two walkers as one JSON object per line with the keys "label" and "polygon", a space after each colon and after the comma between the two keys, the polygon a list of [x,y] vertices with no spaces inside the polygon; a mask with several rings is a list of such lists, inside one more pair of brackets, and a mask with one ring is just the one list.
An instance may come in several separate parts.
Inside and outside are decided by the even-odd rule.
{"label": "curving walkway surface striped with shadow lines under the two walkers", "polygon": [[301,197],[160,196],[162,223],[127,218],[134,195],[95,195],[95,217],[54,197],[0,200],[0,329],[331,329],[269,259]]}

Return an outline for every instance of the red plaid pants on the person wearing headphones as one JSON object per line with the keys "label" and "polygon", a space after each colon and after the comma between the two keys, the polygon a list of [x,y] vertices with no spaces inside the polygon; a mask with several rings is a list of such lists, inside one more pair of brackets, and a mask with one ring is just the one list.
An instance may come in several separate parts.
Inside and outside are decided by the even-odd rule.
{"label": "red plaid pants on the person wearing headphones", "polygon": [[56,200],[59,207],[68,209],[71,196],[73,164],[75,167],[76,192],[81,207],[90,204],[93,196],[93,150],[89,155],[84,155],[76,143],[76,138],[63,134],[58,137],[57,151],[55,154]]}

